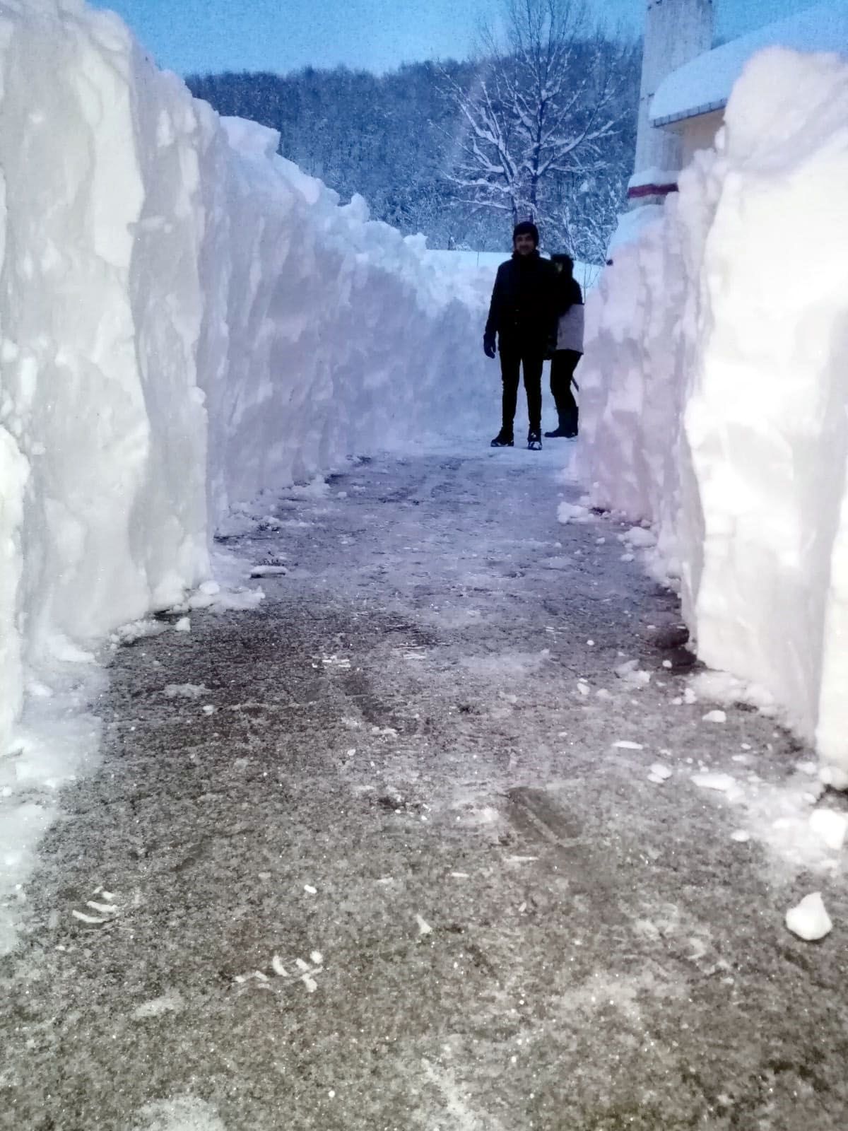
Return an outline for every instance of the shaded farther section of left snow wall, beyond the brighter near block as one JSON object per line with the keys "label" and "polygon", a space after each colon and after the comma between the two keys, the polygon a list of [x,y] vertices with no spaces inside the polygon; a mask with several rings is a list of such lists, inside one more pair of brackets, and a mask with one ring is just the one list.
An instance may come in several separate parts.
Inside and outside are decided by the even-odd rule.
{"label": "shaded farther section of left snow wall, beyond the brighter near block", "polygon": [[275,156],[276,132],[223,127],[227,360],[222,380],[199,374],[216,519],[353,451],[490,426],[488,294],[434,265],[423,236],[369,221],[361,197],[339,207]]}

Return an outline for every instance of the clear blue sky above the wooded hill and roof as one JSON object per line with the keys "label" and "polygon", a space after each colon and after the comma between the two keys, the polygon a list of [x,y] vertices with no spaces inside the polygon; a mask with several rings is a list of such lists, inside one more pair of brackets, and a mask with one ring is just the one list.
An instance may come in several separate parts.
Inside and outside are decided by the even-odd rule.
{"label": "clear blue sky above the wooded hill and roof", "polygon": [[[811,0],[715,0],[717,34],[741,35]],[[638,34],[644,0],[589,0],[609,24]],[[383,71],[419,59],[470,54],[496,0],[109,0],[161,67],[270,70],[311,63]]]}

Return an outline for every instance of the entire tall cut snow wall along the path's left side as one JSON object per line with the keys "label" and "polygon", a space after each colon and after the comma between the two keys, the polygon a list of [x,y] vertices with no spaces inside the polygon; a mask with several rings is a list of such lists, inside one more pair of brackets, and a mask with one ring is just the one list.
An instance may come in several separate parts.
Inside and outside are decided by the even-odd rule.
{"label": "entire tall cut snow wall along the path's left side", "polygon": [[112,12],[0,3],[0,752],[40,665],[208,577],[233,503],[493,426],[487,294],[277,140]]}

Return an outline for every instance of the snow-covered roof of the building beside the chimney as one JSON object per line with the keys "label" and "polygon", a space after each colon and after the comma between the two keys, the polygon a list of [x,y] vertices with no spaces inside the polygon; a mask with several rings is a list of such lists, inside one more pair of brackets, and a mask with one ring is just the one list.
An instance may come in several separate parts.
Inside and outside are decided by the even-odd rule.
{"label": "snow-covered roof of the building beside the chimney", "polygon": [[768,24],[678,67],[654,95],[651,126],[668,126],[720,110],[751,55],[771,46],[848,55],[848,0],[806,8],[797,16]]}

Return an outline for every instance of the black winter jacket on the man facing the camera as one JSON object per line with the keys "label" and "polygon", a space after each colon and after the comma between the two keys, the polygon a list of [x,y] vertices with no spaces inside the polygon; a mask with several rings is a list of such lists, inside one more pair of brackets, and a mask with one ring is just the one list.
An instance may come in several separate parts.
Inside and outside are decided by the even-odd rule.
{"label": "black winter jacket on the man facing the camera", "polygon": [[497,268],[484,340],[500,338],[501,351],[551,353],[560,314],[559,277],[538,252],[513,254]]}

